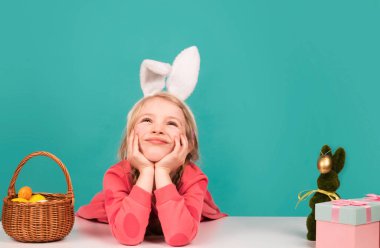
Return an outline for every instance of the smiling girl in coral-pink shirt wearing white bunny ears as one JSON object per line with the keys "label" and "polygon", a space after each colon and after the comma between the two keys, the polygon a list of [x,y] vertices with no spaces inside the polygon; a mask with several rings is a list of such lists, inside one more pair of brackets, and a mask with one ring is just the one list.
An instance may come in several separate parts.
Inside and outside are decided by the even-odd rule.
{"label": "smiling girl in coral-pink shirt wearing white bunny ears", "polygon": [[[143,62],[141,85],[146,96],[128,113],[121,161],[105,173],[103,191],[77,212],[79,217],[109,223],[122,244],[136,245],[144,235],[163,234],[169,245],[186,245],[196,236],[200,221],[226,216],[207,191],[206,175],[194,164],[199,157],[197,126],[179,99],[194,89],[196,58],[198,51],[191,47],[172,67]],[[179,87],[181,74],[189,71],[196,73],[193,82]],[[169,93],[159,92],[168,74]],[[171,79],[176,80],[170,83]]]}

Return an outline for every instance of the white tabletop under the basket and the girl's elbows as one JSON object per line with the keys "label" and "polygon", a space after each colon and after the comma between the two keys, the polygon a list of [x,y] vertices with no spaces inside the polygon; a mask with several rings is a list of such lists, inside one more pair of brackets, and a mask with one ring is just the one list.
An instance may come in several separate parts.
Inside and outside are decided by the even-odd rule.
{"label": "white tabletop under the basket and the girl's elbows", "polygon": [[[306,240],[304,217],[227,217],[202,222],[197,237],[187,247],[315,247]],[[11,239],[0,227],[0,247],[43,248],[103,248],[125,247],[112,236],[107,224],[75,219],[71,233],[61,241],[51,243],[20,243]],[[163,237],[146,238],[140,247],[170,247]]]}

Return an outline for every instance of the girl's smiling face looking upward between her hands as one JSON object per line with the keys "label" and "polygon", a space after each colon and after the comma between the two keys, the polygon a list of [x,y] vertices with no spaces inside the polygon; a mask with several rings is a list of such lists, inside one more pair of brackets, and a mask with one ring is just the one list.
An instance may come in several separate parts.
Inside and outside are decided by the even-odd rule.
{"label": "girl's smiling face looking upward between her hands", "polygon": [[160,161],[174,149],[174,139],[185,134],[185,116],[172,102],[152,98],[144,103],[135,124],[140,151],[151,162]]}

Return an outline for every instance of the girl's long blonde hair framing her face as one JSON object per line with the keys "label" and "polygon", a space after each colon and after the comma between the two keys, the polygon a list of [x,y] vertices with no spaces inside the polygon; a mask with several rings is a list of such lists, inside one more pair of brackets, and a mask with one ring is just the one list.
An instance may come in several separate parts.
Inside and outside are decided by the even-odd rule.
{"label": "girl's long blonde hair framing her face", "polygon": [[[176,106],[178,106],[185,116],[185,131],[186,131],[186,138],[189,141],[189,147],[191,147],[191,151],[187,154],[185,163],[181,165],[177,171],[174,173],[172,177],[173,183],[178,186],[184,167],[186,164],[194,163],[199,159],[199,151],[198,151],[198,129],[195,122],[195,118],[193,113],[191,112],[190,108],[186,105],[185,102],[181,101],[174,95],[166,92],[159,92],[152,96],[147,96],[139,100],[129,111],[127,116],[127,125],[124,130],[124,135],[122,138],[122,142],[119,148],[118,157],[121,160],[127,159],[127,149],[128,149],[128,137],[132,131],[132,129],[135,127],[137,118],[139,116],[139,113],[144,106],[144,104],[153,98],[161,98],[164,100],[167,100],[171,103],[174,103]],[[139,171],[132,167],[132,181],[133,184],[136,183],[137,178],[139,176]]]}

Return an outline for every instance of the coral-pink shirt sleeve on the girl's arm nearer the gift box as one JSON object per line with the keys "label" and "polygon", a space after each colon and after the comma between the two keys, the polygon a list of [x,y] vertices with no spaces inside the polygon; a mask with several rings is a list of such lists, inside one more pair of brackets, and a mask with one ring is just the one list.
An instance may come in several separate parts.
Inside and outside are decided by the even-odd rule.
{"label": "coral-pink shirt sleeve on the girl's arm nearer the gift box", "polygon": [[158,217],[166,243],[183,246],[195,238],[206,190],[207,178],[194,183],[182,195],[174,184],[155,190]]}

